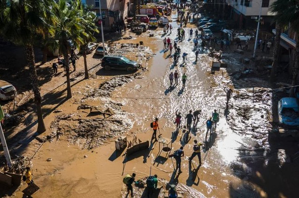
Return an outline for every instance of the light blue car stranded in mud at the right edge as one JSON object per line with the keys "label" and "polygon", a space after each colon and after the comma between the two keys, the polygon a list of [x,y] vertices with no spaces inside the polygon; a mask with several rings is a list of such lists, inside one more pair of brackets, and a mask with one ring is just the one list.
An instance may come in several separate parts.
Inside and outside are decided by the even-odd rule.
{"label": "light blue car stranded in mud at the right edge", "polygon": [[279,124],[291,128],[299,127],[299,105],[297,98],[282,98],[278,102]]}

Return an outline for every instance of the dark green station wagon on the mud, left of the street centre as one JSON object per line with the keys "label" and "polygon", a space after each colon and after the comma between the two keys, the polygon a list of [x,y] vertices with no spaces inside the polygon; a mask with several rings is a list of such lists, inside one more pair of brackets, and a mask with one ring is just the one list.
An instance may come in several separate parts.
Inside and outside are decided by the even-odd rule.
{"label": "dark green station wagon on the mud, left of the street centre", "polygon": [[102,59],[102,67],[105,70],[121,69],[127,71],[138,70],[139,64],[135,61],[131,61],[124,56],[119,55],[105,55]]}

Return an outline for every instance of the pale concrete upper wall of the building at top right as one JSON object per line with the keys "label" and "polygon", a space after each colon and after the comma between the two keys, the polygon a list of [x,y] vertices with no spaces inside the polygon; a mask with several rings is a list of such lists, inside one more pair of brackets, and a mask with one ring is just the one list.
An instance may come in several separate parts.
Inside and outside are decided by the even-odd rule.
{"label": "pale concrete upper wall of the building at top right", "polygon": [[[275,0],[269,1],[269,7],[262,7],[261,15],[262,16],[271,16],[273,13],[270,11],[270,6]],[[251,7],[245,6],[245,0],[243,0],[243,4],[241,4],[241,0],[226,0],[226,3],[230,6],[234,7],[236,10],[244,14],[245,16],[258,16],[260,13],[260,3],[262,0],[251,0]]]}

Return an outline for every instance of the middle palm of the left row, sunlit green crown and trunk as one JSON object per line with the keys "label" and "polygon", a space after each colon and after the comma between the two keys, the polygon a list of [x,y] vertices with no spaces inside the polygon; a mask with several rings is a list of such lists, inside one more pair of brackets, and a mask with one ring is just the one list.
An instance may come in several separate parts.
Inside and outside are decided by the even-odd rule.
{"label": "middle palm of the left row, sunlit green crown and trunk", "polygon": [[66,0],[59,0],[52,7],[54,15],[55,39],[59,43],[59,52],[64,56],[66,82],[67,82],[67,99],[72,97],[70,83],[70,67],[69,67],[69,40],[74,42],[75,46],[83,43],[81,35],[83,27],[80,24],[81,17],[78,17],[78,10],[74,6],[67,4]]}

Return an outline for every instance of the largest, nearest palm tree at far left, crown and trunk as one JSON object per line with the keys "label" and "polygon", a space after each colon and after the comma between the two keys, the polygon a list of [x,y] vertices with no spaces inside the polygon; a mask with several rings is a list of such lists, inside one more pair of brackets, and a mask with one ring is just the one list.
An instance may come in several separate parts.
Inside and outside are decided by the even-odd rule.
{"label": "largest, nearest palm tree at far left, crown and trunk", "polygon": [[[6,2],[5,0],[3,0]],[[2,1],[2,3],[3,3]],[[35,69],[33,41],[44,23],[44,8],[47,0],[11,0],[5,5],[0,26],[1,34],[16,45],[25,48],[26,60],[29,66],[31,86],[38,119],[37,132],[45,132],[45,124],[41,110],[41,96]],[[3,7],[1,7],[3,9]],[[0,22],[1,24],[1,22]]]}

